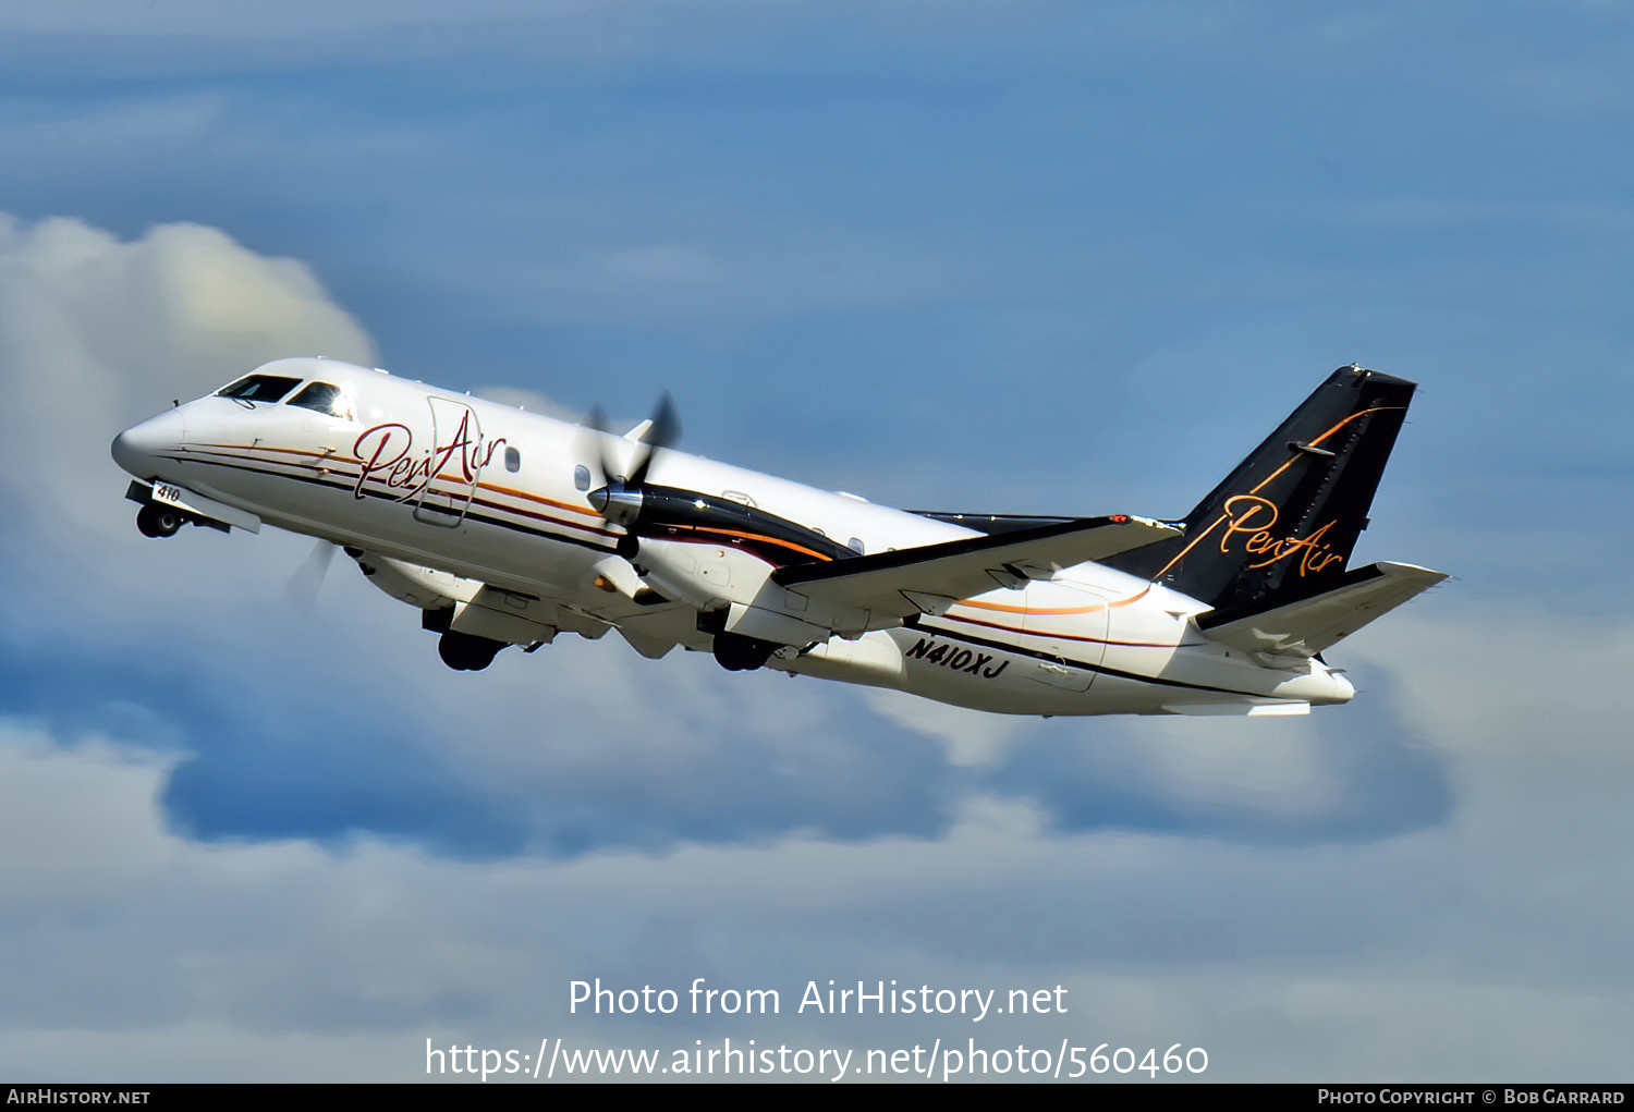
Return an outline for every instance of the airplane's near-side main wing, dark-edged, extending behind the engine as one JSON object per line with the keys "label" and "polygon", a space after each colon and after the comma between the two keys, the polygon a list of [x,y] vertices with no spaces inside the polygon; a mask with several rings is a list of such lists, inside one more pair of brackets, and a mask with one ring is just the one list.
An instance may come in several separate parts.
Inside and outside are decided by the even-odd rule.
{"label": "airplane's near-side main wing, dark-edged, extending behind the engine", "polygon": [[1087,560],[1103,560],[1180,529],[1149,518],[1113,514],[961,537],[895,552],[773,572],[775,583],[835,607],[876,616],[941,614],[959,599],[1044,580]]}

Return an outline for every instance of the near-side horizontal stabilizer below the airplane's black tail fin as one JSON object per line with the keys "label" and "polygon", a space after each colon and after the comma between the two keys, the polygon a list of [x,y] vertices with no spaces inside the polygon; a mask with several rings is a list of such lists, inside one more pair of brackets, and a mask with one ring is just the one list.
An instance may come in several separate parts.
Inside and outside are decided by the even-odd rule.
{"label": "near-side horizontal stabilizer below the airplane's black tail fin", "polygon": [[1322,594],[1271,607],[1239,606],[1198,616],[1209,640],[1250,653],[1315,656],[1446,578],[1412,563],[1369,563]]}

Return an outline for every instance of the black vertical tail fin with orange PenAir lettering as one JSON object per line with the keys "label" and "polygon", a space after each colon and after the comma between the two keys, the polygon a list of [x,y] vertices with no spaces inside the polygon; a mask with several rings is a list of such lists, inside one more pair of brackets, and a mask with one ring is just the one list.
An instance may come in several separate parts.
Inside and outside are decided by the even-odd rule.
{"label": "black vertical tail fin with orange PenAir lettering", "polygon": [[1340,367],[1198,503],[1183,536],[1106,563],[1216,609],[1328,589],[1368,527],[1413,389]]}

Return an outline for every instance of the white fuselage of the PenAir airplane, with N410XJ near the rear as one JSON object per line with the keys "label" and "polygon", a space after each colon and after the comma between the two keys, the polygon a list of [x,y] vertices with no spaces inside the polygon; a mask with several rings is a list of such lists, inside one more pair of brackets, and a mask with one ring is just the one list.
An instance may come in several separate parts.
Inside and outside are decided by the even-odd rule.
{"label": "white fuselage of the PenAir airplane, with N410XJ near the rear", "polygon": [[[618,629],[652,656],[673,645],[709,648],[698,606],[676,591],[652,606],[613,589],[629,575],[614,555],[623,529],[587,500],[588,467],[598,449],[627,457],[634,441],[327,359],[284,359],[261,372],[335,384],[350,408],[330,415],[209,395],[121,434],[116,459],[139,480],[261,523],[533,599],[556,614],[551,627]],[[977,536],[680,451],[660,452],[652,472],[665,487],[758,508],[858,552]],[[773,568],[732,544],[667,550],[670,578],[716,601],[748,603]],[[1204,609],[1162,585],[1082,563],[912,625],[815,640],[768,665],[1005,714],[1278,714],[1351,697],[1319,660],[1204,638],[1193,622]]]}

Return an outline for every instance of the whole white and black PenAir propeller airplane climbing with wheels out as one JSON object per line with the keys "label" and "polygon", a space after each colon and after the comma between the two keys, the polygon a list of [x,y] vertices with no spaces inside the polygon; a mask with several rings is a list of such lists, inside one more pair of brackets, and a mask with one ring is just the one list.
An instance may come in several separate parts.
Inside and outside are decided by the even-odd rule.
{"label": "whole white and black PenAir propeller airplane climbing with wheels out", "polygon": [[[618,630],[727,669],[1016,715],[1289,715],[1324,652],[1446,578],[1348,567],[1415,384],[1328,376],[1183,519],[902,511],[324,358],[268,363],[113,441],[137,527],[340,545],[454,669]],[[333,552],[333,549],[328,549]]]}

